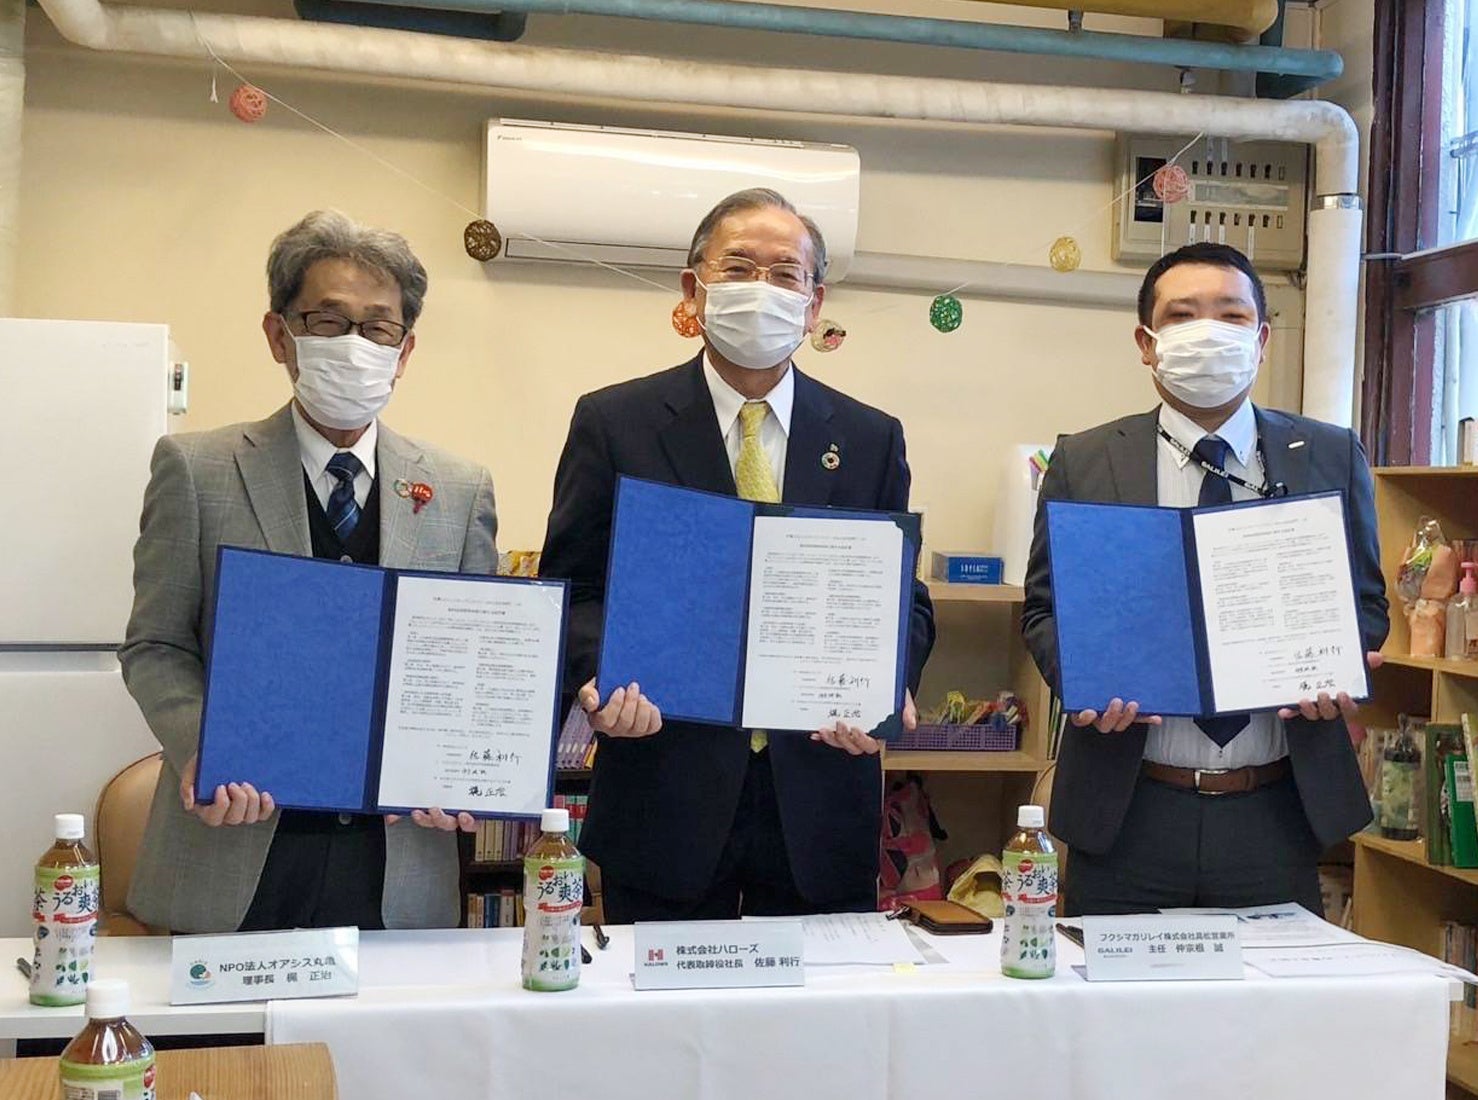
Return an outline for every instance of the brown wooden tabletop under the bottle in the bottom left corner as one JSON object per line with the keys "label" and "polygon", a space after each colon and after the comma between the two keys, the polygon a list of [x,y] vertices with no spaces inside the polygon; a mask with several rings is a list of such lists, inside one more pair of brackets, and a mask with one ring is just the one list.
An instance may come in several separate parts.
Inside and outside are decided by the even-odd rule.
{"label": "brown wooden tabletop under the bottle in the bottom left corner", "polygon": [[[282,1047],[161,1050],[158,1100],[338,1100],[334,1060],[322,1042]],[[56,1100],[56,1059],[0,1059],[6,1100]]]}

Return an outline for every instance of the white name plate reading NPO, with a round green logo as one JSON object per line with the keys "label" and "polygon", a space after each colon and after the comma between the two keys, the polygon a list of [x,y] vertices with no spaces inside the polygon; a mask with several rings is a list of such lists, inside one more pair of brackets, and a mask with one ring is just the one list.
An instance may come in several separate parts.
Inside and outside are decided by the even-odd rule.
{"label": "white name plate reading NPO, with a round green logo", "polygon": [[285,1001],[359,992],[359,928],[176,936],[170,1004]]}

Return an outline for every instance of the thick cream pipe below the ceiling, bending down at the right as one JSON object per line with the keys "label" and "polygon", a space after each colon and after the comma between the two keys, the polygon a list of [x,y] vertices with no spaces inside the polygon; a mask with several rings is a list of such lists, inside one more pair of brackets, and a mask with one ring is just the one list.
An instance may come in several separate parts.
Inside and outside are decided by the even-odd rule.
{"label": "thick cream pipe below the ceiling, bending down at the right", "polygon": [[1318,235],[1320,248],[1311,248],[1308,259],[1310,296],[1318,296],[1318,310],[1310,309],[1305,325],[1304,411],[1338,424],[1352,417],[1355,361],[1348,340],[1358,315],[1357,279],[1351,278],[1360,266],[1358,130],[1335,103],[770,69],[291,19],[105,7],[98,0],[40,4],[68,40],[123,53],[207,61],[208,41],[216,55],[236,64],[664,106],[1308,142],[1314,146],[1318,195],[1310,237]]}

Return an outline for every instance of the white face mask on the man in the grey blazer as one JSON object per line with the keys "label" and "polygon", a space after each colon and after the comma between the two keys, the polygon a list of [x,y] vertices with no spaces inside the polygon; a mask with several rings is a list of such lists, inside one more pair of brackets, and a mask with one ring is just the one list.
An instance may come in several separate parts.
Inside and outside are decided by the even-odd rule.
{"label": "white face mask on the man in the grey blazer", "polygon": [[303,411],[324,427],[364,427],[390,401],[403,347],[344,336],[293,336],[297,381],[293,393]]}

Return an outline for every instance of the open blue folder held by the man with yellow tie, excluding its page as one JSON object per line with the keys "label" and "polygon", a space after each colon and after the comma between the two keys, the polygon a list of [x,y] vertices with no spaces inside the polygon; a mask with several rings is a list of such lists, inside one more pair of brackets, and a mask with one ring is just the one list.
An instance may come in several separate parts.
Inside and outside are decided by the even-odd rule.
{"label": "open blue folder held by the man with yellow tie, excluding its page", "polygon": [[760,504],[622,476],[606,571],[600,698],[628,683],[664,717],[738,726],[743,713],[749,565],[758,516],[865,519],[903,529],[896,714],[873,736],[902,732],[919,517],[910,513]]}

